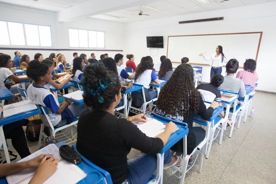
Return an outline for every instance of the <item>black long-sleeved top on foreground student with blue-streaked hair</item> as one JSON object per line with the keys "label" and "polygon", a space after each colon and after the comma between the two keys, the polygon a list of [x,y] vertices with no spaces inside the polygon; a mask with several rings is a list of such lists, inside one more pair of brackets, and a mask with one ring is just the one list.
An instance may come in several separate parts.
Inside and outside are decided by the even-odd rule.
{"label": "black long-sleeved top on foreground student with blue-streaked hair", "polygon": [[157,154],[164,147],[159,138],[147,137],[125,118],[101,110],[86,110],[78,120],[77,150],[108,171],[114,184],[127,178],[127,154],[131,148]]}

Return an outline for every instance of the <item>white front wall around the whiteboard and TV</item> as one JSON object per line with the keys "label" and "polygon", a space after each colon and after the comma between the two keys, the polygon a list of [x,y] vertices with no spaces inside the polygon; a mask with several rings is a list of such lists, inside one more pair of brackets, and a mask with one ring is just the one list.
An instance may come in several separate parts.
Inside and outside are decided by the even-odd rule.
{"label": "white front wall around the whiteboard and TV", "polygon": [[[257,73],[259,86],[257,89],[276,92],[276,85],[269,83],[275,76],[268,68],[276,68],[274,53],[276,49],[276,2],[259,5],[209,11],[198,14],[175,16],[155,20],[139,21],[125,24],[124,54],[135,55],[135,63],[139,64],[141,57],[150,55],[146,45],[146,36],[164,36],[164,49],[151,49],[154,62],[160,62],[160,56],[167,53],[167,37],[170,35],[214,34],[231,32],[262,31],[262,41],[258,54]],[[202,18],[224,17],[223,21],[178,24],[179,21]],[[215,48],[214,48],[215,49]],[[202,51],[198,51],[200,53]],[[242,52],[242,51],[241,51]],[[179,53],[182,57],[189,57]],[[178,64],[173,64],[177,66]],[[210,81],[210,66],[203,66],[203,81]],[[223,67],[222,74],[225,74]]]}

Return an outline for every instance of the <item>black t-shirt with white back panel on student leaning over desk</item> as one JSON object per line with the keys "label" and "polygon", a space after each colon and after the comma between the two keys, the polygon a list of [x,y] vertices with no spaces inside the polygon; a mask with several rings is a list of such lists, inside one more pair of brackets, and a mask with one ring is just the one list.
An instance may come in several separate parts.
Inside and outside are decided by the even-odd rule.
{"label": "black t-shirt with white back panel on student leaning over desk", "polygon": [[203,101],[217,101],[219,104],[221,103],[221,92],[210,83],[200,84],[196,89],[200,92]]}

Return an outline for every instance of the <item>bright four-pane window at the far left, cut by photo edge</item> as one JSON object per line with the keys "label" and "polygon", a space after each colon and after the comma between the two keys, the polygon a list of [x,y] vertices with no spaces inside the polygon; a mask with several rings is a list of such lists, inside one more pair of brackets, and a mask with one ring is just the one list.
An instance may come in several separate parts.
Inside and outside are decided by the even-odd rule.
{"label": "bright four-pane window at the far left, cut by photo edge", "polygon": [[51,27],[0,21],[0,45],[51,47]]}

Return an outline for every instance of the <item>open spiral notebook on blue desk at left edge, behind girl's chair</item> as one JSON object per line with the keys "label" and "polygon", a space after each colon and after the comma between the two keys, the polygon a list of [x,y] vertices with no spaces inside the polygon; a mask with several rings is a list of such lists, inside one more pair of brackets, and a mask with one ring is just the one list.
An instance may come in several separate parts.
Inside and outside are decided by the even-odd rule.
{"label": "open spiral notebook on blue desk at left edge, behind girl's chair", "polygon": [[3,118],[37,109],[31,100],[20,101],[3,107]]}

